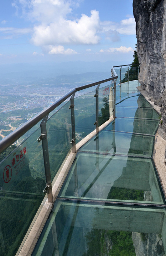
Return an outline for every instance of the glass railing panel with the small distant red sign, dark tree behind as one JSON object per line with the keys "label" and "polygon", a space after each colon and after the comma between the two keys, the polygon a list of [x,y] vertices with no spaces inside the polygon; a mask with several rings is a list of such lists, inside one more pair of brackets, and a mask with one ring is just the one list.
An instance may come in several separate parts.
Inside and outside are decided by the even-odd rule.
{"label": "glass railing panel with the small distant red sign, dark tree behind", "polygon": [[99,88],[99,126],[113,115],[113,85],[110,82],[105,84],[101,84],[102,87]]}

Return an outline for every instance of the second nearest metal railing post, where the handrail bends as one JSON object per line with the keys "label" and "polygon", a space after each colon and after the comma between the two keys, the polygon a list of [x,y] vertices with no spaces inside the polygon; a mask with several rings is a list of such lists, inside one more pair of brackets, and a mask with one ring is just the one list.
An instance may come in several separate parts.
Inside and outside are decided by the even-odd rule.
{"label": "second nearest metal railing post, where the handrail bends", "polygon": [[72,144],[72,152],[75,153],[76,149],[75,149],[75,114],[74,114],[74,96],[75,93],[72,94],[71,98],[70,98],[70,106],[69,109],[71,109],[71,130],[72,130],[72,140],[71,140],[71,144]]}

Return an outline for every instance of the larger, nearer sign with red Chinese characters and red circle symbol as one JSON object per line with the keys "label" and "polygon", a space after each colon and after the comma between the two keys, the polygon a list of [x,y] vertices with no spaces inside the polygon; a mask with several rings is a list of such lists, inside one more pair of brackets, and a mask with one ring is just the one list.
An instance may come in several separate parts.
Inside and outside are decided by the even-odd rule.
{"label": "larger, nearer sign with red Chinese characters and red circle symbol", "polygon": [[18,146],[16,150],[0,164],[2,190],[5,191],[12,184],[24,168],[29,164],[27,143]]}

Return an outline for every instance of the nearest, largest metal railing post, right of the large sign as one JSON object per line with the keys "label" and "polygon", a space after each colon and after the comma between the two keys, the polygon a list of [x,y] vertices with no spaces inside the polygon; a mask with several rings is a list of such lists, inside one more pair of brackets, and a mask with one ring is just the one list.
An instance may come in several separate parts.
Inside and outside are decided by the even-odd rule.
{"label": "nearest, largest metal railing post, right of the large sign", "polygon": [[48,202],[53,203],[51,173],[50,173],[50,165],[49,165],[49,149],[48,149],[47,129],[46,129],[47,119],[48,119],[48,115],[46,115],[43,118],[42,122],[40,123],[41,135],[38,138],[38,142],[42,140],[44,169],[45,169],[45,178],[46,178],[46,187],[44,188],[44,193],[46,193],[47,191]]}

